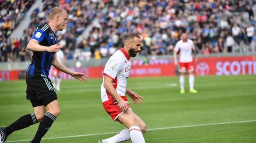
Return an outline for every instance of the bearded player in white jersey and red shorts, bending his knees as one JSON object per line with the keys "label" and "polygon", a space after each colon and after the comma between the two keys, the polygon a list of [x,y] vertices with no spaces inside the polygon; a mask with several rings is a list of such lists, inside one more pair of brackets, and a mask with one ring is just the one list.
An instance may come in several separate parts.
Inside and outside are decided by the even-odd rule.
{"label": "bearded player in white jersey and red shorts, bending his knees", "polygon": [[131,109],[125,94],[135,104],[140,104],[143,97],[126,87],[131,70],[130,57],[135,57],[141,51],[141,38],[128,34],[124,39],[124,48],[117,50],[107,61],[101,86],[102,104],[114,121],[124,124],[127,128],[119,134],[98,143],[121,143],[132,140],[132,143],[145,143],[143,133],[146,123]]}

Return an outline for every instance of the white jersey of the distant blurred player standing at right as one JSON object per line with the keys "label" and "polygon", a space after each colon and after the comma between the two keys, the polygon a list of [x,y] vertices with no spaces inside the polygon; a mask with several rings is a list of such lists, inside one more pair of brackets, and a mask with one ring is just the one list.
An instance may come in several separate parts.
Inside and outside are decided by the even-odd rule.
{"label": "white jersey of the distant blurred player standing at right", "polygon": [[183,42],[182,40],[178,41],[174,50],[180,50],[181,63],[189,63],[193,61],[192,50],[194,50],[194,43],[192,40],[188,39],[187,42]]}

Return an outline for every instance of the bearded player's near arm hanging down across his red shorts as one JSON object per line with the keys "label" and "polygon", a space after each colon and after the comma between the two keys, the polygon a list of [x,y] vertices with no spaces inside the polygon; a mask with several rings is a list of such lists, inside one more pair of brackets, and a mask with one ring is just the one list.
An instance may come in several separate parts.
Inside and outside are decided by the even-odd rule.
{"label": "bearded player's near arm hanging down across his red shorts", "polygon": [[128,101],[124,101],[124,99],[122,99],[118,93],[116,92],[115,88],[113,87],[113,83],[114,82],[114,79],[110,78],[109,76],[104,76],[104,82],[103,82],[103,85],[104,85],[104,88],[106,89],[106,91],[108,93],[110,93],[110,96],[113,97],[119,104],[119,108],[122,110],[122,111],[126,111],[128,110]]}

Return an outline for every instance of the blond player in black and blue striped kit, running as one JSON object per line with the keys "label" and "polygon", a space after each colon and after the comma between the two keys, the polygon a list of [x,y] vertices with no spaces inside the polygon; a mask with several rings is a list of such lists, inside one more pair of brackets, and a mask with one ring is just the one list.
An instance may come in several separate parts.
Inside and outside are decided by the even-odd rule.
{"label": "blond player in black and blue striped kit, running", "polygon": [[27,45],[27,50],[33,51],[33,57],[26,71],[26,99],[31,101],[34,112],[18,118],[7,127],[0,128],[0,143],[3,143],[15,130],[21,130],[38,122],[40,122],[38,130],[31,143],[40,143],[60,114],[57,95],[48,77],[51,65],[76,79],[86,81],[83,73],[71,71],[56,58],[55,53],[62,46],[58,44],[55,33],[57,30],[63,30],[66,24],[66,10],[56,7],[49,13],[49,24],[39,25],[35,30]]}

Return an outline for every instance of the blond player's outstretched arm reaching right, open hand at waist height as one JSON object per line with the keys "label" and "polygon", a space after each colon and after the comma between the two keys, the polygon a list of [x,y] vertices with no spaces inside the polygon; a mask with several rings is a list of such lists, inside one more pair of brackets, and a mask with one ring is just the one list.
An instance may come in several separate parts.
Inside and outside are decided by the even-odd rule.
{"label": "blond player's outstretched arm reaching right, open hand at waist height", "polygon": [[53,67],[56,67],[57,69],[65,72],[66,74],[73,76],[74,78],[80,81],[86,81],[86,76],[84,75],[84,73],[71,71],[64,64],[62,64],[60,61],[57,60],[56,54],[53,55],[52,65]]}

